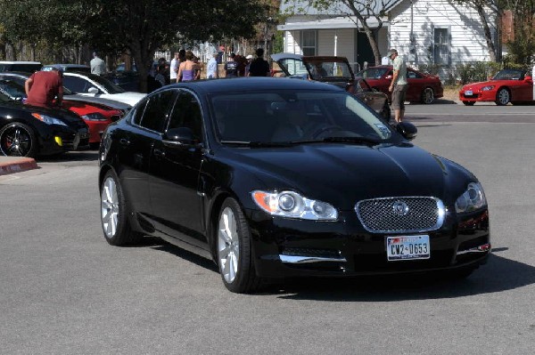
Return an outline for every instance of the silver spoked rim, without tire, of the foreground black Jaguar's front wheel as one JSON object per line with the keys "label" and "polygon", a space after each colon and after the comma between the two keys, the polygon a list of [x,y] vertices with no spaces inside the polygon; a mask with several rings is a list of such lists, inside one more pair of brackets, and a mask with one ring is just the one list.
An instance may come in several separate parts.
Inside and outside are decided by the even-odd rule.
{"label": "silver spoked rim, without tire, of the foreground black Jaguar's front wheel", "polygon": [[218,259],[225,281],[232,283],[238,272],[240,238],[235,214],[230,207],[223,210],[218,222]]}

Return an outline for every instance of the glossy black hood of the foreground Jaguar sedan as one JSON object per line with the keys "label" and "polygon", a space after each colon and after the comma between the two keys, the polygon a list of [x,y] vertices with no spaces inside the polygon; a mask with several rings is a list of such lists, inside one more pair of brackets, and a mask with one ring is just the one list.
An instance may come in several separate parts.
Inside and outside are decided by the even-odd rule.
{"label": "glossy black hood of the foreground Jaguar sedan", "polygon": [[[283,149],[232,149],[233,160],[264,186],[297,190],[350,210],[366,198],[436,197],[448,206],[475,177],[460,165],[411,143],[375,147],[306,144]],[[452,198],[455,197],[455,198]]]}

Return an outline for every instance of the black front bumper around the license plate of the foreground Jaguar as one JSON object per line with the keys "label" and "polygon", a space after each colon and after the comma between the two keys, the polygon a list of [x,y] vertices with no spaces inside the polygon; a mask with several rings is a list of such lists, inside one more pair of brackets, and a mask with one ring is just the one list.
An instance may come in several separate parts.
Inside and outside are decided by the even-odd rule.
{"label": "black front bumper around the license plate of the foreground Jaguar", "polygon": [[266,278],[475,268],[490,254],[487,210],[462,217],[447,215],[439,230],[419,233],[429,236],[429,259],[393,262],[387,261],[386,237],[395,235],[366,231],[351,212],[342,213],[339,222],[267,219],[251,212],[250,223],[257,274]]}

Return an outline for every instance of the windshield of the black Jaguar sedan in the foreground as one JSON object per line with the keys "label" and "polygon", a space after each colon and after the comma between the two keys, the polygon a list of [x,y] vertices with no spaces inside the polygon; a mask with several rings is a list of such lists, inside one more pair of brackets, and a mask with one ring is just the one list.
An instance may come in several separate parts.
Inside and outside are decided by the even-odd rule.
{"label": "windshield of the black Jaguar sedan in the foreground", "polygon": [[296,143],[345,141],[377,143],[392,131],[352,95],[331,91],[221,93],[210,98],[215,130],[222,142]]}

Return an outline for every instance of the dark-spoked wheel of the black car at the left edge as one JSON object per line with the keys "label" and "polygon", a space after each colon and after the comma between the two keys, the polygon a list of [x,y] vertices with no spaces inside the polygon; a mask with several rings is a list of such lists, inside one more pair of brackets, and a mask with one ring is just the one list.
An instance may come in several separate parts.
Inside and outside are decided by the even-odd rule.
{"label": "dark-spoked wheel of the black car at the left edge", "polygon": [[36,133],[21,122],[4,125],[0,130],[0,153],[8,157],[35,157]]}

